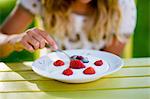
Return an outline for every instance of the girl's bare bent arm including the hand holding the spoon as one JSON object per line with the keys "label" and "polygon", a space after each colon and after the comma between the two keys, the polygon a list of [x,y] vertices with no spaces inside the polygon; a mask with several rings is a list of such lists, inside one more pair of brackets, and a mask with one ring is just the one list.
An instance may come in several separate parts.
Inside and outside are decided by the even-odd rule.
{"label": "girl's bare bent arm including the hand holding the spoon", "polygon": [[[30,29],[25,31],[31,24],[33,18],[34,15],[22,6],[16,7],[8,16],[4,24],[0,27],[1,57],[7,56],[12,51],[17,50],[18,46],[19,50],[21,48],[33,52],[34,50],[44,48],[45,44],[48,43],[54,49],[57,49],[55,41],[46,31],[40,29]],[[7,51],[7,54],[3,55],[5,49],[9,51]]]}

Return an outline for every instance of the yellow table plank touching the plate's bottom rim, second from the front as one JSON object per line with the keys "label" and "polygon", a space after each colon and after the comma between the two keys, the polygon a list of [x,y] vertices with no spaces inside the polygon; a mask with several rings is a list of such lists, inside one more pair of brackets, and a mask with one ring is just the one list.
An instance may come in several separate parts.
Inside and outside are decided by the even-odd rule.
{"label": "yellow table plank touching the plate's bottom rim, second from the front", "polygon": [[77,90],[111,90],[128,88],[150,88],[150,77],[107,78],[91,83],[67,84],[54,80],[0,82],[0,92],[15,91],[77,91]]}

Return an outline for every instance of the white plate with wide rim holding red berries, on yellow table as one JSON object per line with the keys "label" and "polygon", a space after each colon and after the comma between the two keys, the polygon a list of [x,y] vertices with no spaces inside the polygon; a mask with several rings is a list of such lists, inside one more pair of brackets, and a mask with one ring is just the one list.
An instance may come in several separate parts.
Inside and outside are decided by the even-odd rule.
{"label": "white plate with wide rim holding red berries, on yellow table", "polygon": [[[46,56],[43,56],[37,59],[32,64],[32,69],[37,74],[48,77],[51,79],[55,79],[62,82],[67,83],[85,83],[97,80],[104,75],[108,75],[119,70],[123,66],[123,61],[120,57],[103,51],[95,51],[95,50],[66,50],[65,51],[68,55],[82,55],[84,57],[88,57],[89,63],[86,63],[86,67],[92,66],[96,74],[94,75],[85,75],[83,74],[83,69],[72,69],[73,75],[66,76],[63,75],[62,72],[69,67],[69,59],[60,52],[53,52]],[[64,66],[55,67],[53,66],[53,62],[61,59],[65,62]],[[94,62],[98,59],[103,60],[103,66],[97,67],[94,66]]]}

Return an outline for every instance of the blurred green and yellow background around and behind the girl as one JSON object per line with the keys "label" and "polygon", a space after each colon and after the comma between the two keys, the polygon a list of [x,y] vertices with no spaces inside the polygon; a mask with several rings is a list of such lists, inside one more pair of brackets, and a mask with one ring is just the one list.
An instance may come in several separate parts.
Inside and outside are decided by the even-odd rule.
{"label": "blurred green and yellow background around and behind the girl", "polygon": [[[17,0],[0,0],[0,24],[15,7]],[[123,58],[150,57],[150,0],[136,0],[137,25],[134,35],[131,36],[126,45]],[[31,27],[38,26],[35,19]],[[7,58],[0,58],[4,62],[32,61],[39,57],[39,51],[29,53],[27,51],[13,52]]]}

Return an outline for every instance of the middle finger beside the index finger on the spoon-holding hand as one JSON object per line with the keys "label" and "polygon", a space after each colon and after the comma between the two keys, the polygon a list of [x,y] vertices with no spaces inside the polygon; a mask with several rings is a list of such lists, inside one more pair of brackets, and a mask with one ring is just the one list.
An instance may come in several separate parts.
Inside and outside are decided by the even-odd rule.
{"label": "middle finger beside the index finger on the spoon-holding hand", "polygon": [[33,33],[31,34],[31,36],[36,39],[40,44],[39,44],[39,47],[40,48],[44,48],[45,47],[45,39],[41,36],[41,35],[38,35],[36,32],[32,31]]}

